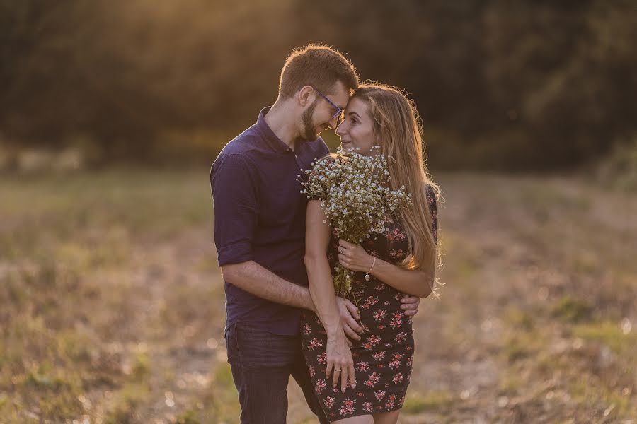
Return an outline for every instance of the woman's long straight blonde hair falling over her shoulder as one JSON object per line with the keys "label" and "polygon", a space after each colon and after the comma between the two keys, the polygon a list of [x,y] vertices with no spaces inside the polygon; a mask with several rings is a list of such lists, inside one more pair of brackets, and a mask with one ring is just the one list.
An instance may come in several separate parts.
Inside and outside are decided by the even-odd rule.
{"label": "woman's long straight blonde hair falling over her shoulder", "polygon": [[363,83],[352,98],[367,102],[381,152],[395,159],[388,164],[391,189],[405,186],[406,192],[412,194],[413,206],[398,213],[409,239],[407,257],[400,265],[406,269],[431,269],[435,281],[439,257],[426,188],[428,185],[432,189],[436,199],[440,188],[432,182],[425,164],[418,110],[400,90],[381,83]]}

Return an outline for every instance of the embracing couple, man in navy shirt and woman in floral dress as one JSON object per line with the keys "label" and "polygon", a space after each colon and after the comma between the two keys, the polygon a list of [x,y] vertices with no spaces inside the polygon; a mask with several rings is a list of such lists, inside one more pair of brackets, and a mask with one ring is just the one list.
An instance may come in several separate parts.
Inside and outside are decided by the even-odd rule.
{"label": "embracing couple, man in navy shirt and woman in floral dress", "polygon": [[[412,206],[361,244],[338,237],[297,179],[328,155],[328,128],[343,151],[393,158],[389,188],[411,194]],[[285,423],[290,375],[321,423],[396,423],[413,369],[411,317],[437,263],[438,189],[413,104],[360,84],[330,47],[296,49],[275,104],[224,147],[210,182],[241,423]],[[333,285],[339,267],[352,275],[346,294]]]}

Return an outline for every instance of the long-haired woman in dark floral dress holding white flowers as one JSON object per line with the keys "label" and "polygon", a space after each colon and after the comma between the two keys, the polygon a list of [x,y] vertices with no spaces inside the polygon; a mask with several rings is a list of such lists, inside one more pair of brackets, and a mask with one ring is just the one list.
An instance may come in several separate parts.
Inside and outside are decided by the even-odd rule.
{"label": "long-haired woman in dark floral dress holding white flowers", "polygon": [[[309,201],[305,263],[316,314],[302,317],[302,348],[332,422],[396,423],[414,352],[411,319],[401,312],[400,300],[405,293],[420,298],[432,293],[438,187],[423,166],[418,112],[395,88],[360,86],[336,133],[344,149],[393,157],[391,188],[404,185],[414,206],[388,218],[389,232],[372,235],[361,246],[338,240],[323,223],[320,201]],[[331,276],[337,261],[355,271],[352,290],[365,327],[360,341],[350,341],[340,324]]]}

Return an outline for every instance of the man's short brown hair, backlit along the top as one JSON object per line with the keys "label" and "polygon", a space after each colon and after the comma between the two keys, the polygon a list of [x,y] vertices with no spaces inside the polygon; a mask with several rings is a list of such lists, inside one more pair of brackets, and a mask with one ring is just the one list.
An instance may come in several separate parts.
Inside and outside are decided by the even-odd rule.
{"label": "man's short brown hair, backlit along the top", "polygon": [[281,71],[279,97],[290,98],[304,86],[330,93],[337,81],[350,93],[358,88],[358,76],[352,62],[326,45],[307,45],[294,49],[287,57]]}

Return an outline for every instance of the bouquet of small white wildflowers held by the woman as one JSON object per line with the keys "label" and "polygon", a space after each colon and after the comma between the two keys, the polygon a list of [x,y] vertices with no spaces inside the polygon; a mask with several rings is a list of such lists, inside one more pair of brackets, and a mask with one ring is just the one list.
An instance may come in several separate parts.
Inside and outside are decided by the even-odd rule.
{"label": "bouquet of small white wildflowers held by the woman", "polygon": [[[374,150],[380,146],[374,146]],[[304,171],[302,194],[308,199],[320,199],[321,209],[336,235],[355,244],[362,243],[372,232],[384,233],[386,218],[407,204],[413,206],[411,193],[405,186],[389,188],[387,161],[394,158],[382,154],[364,156],[357,151],[338,151],[335,155],[315,160]],[[299,175],[299,178],[301,176]],[[336,264],[334,288],[337,294],[348,295],[352,290],[350,270]],[[369,279],[369,275],[365,276]]]}

